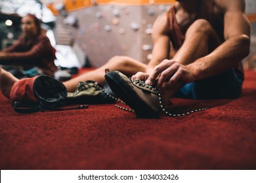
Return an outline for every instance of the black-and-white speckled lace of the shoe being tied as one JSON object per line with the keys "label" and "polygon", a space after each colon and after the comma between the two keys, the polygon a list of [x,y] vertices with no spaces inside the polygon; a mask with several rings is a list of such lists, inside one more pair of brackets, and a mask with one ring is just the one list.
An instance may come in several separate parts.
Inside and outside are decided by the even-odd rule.
{"label": "black-and-white speckled lace of the shoe being tied", "polygon": [[[131,79],[130,79],[131,80]],[[198,111],[202,111],[202,110],[206,110],[207,108],[199,108],[199,109],[196,109],[196,110],[191,110],[189,112],[184,112],[182,114],[171,114],[170,112],[168,112],[164,107],[163,107],[163,101],[162,101],[162,97],[161,97],[161,93],[159,92],[158,90],[158,87],[156,84],[154,84],[153,86],[152,85],[149,85],[149,84],[146,84],[144,81],[142,80],[131,80],[131,82],[133,82],[133,84],[138,84],[139,86],[141,87],[144,87],[146,89],[149,89],[149,90],[153,90],[154,92],[156,92],[158,94],[158,98],[159,98],[159,103],[160,103],[160,108],[161,110],[167,115],[167,116],[171,116],[171,117],[176,117],[176,116],[185,116],[185,115],[188,115],[188,114],[191,114],[193,112],[198,112]],[[123,101],[121,101],[122,103],[124,103]],[[125,103],[124,103],[125,104]],[[132,110],[131,108],[125,108],[125,107],[121,107],[119,105],[116,105],[116,107],[118,108],[121,108],[123,110],[127,110],[129,112],[135,112],[134,110]]]}

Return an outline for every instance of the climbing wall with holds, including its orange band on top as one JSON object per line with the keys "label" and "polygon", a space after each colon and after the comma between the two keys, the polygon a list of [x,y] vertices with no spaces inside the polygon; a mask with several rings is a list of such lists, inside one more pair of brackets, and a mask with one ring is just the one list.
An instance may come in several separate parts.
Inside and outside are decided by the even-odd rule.
{"label": "climbing wall with holds, including its orange band on top", "polygon": [[[154,20],[174,0],[44,0],[56,15],[56,44],[70,45],[90,65],[99,67],[113,56],[129,56],[148,63],[153,48]],[[251,54],[255,54],[255,0],[246,0],[252,22]],[[129,4],[129,5],[128,5]],[[72,60],[70,60],[72,62]]]}

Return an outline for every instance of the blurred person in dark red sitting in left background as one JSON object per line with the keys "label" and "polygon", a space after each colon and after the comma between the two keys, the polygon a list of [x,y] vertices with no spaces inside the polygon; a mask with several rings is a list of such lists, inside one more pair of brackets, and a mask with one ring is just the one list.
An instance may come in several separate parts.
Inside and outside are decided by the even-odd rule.
{"label": "blurred person in dark red sitting in left background", "polygon": [[41,20],[27,14],[21,20],[22,34],[18,40],[0,52],[0,65],[18,78],[35,75],[53,76],[56,50],[44,29]]}

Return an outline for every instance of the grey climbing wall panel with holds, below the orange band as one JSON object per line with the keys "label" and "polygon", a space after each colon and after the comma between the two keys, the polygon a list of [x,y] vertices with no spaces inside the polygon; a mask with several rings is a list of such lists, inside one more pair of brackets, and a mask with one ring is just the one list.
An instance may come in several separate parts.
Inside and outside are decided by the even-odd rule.
{"label": "grey climbing wall panel with holds, below the orange band", "polygon": [[60,11],[54,28],[56,44],[77,44],[93,67],[113,56],[147,63],[153,48],[152,25],[170,5],[108,4]]}

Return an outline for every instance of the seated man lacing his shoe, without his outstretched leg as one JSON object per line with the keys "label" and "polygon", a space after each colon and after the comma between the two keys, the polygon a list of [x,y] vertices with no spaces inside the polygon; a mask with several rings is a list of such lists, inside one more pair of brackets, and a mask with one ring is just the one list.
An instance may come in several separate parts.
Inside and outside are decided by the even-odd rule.
{"label": "seated man lacing his shoe, without his outstretched leg", "polygon": [[[188,99],[240,96],[244,80],[242,59],[249,54],[250,45],[245,1],[177,0],[157,21],[161,22],[158,27],[161,49],[157,54],[167,58],[171,41],[178,50],[173,59],[149,63],[148,67],[156,67],[150,72],[137,73],[132,80],[117,71],[105,76],[113,92],[135,110],[137,117],[158,118],[172,96]],[[159,91],[152,88],[154,84]]]}

